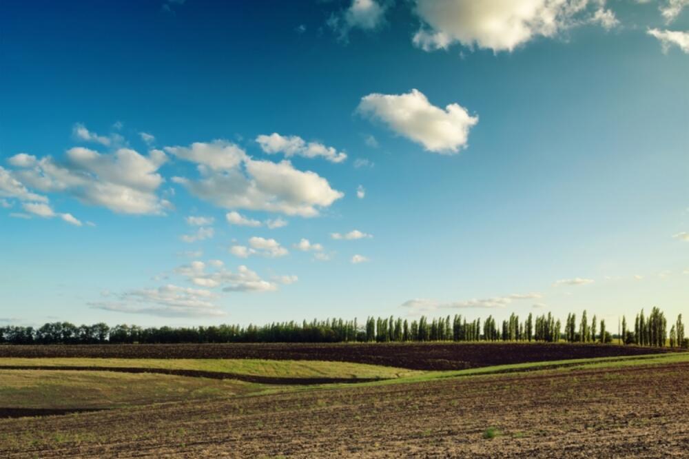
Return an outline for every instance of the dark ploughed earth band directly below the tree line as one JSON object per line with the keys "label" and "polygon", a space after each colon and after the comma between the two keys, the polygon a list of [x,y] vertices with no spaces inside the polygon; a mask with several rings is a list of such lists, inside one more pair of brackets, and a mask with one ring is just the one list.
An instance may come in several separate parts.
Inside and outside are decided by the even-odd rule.
{"label": "dark ploughed earth band directly below the tree line", "polygon": [[450,370],[568,358],[636,356],[667,351],[670,350],[564,343],[7,345],[0,346],[0,357],[333,360],[408,369]]}

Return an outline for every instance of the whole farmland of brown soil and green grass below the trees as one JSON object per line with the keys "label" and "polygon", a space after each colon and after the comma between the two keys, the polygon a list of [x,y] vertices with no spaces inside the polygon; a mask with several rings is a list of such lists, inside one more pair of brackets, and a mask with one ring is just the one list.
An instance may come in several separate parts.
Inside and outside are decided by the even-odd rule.
{"label": "whole farmland of brown soil and green grass below the trees", "polygon": [[[0,348],[0,456],[682,457],[689,449],[685,352],[535,344],[109,348]],[[192,359],[194,349],[203,358]],[[309,349],[319,360],[298,358],[311,357]],[[247,354],[253,358],[237,358]],[[359,363],[376,359],[387,365]]]}

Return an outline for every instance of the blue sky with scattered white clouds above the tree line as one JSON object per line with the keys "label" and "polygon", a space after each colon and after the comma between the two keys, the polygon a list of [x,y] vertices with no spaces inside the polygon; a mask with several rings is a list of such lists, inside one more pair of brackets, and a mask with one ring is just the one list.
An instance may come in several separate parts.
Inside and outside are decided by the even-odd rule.
{"label": "blue sky with scattered white clouds above the tree line", "polygon": [[0,5],[0,326],[689,314],[688,0]]}

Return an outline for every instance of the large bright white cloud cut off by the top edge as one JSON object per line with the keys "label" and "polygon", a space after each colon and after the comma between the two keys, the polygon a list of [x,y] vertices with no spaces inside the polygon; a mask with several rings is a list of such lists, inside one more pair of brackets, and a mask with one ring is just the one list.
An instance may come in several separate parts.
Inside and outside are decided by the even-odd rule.
{"label": "large bright white cloud cut off by the top edge", "polygon": [[[426,51],[454,43],[512,51],[535,37],[595,21],[608,28],[617,23],[605,0],[416,0],[422,27],[413,43]],[[595,8],[591,14],[590,8]]]}

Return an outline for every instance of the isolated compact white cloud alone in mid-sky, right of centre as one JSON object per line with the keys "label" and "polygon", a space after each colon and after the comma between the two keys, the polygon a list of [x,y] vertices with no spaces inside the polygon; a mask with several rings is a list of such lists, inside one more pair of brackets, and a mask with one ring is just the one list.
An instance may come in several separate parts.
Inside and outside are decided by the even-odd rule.
{"label": "isolated compact white cloud alone in mid-sky, right of centre", "polygon": [[469,130],[478,123],[461,105],[444,110],[432,105],[418,90],[407,94],[369,94],[358,112],[385,123],[393,132],[420,143],[429,152],[453,154],[466,147]]}

